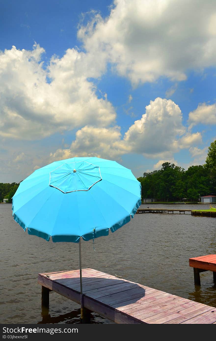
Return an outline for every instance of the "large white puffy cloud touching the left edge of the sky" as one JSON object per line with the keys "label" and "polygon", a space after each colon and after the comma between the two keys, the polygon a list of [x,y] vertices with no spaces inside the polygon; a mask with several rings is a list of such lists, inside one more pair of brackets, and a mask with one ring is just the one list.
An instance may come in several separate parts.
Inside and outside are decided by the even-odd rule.
{"label": "large white puffy cloud touching the left edge of the sky", "polygon": [[106,127],[115,120],[112,104],[98,99],[87,80],[98,76],[88,55],[68,49],[44,68],[43,53],[36,44],[31,51],[13,46],[0,53],[1,136],[31,140],[81,128],[83,122]]}

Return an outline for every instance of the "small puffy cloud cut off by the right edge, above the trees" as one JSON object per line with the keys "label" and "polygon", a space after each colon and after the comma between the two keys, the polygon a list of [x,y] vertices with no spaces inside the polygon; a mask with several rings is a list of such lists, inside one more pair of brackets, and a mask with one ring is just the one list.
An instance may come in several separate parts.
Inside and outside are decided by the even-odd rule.
{"label": "small puffy cloud cut off by the right edge, above the trees", "polygon": [[216,124],[216,104],[199,104],[197,109],[189,113],[189,129],[194,125],[203,124]]}

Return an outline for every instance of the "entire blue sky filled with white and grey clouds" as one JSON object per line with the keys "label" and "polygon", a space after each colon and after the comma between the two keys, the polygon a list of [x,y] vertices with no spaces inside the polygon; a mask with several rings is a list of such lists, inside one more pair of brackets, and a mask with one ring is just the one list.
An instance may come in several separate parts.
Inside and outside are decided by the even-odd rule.
{"label": "entire blue sky filled with white and grey clouds", "polygon": [[216,139],[216,4],[0,1],[0,182],[59,159],[136,177]]}

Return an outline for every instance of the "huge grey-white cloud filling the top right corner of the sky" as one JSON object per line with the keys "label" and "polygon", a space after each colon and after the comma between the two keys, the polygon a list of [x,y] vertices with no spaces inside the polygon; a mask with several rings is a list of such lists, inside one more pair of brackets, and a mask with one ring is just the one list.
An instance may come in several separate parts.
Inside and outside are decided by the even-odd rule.
{"label": "huge grey-white cloud filling the top right corner of the sky", "polygon": [[181,81],[188,69],[216,64],[215,18],[214,1],[115,0],[78,38],[99,65],[113,63],[135,86],[160,76]]}

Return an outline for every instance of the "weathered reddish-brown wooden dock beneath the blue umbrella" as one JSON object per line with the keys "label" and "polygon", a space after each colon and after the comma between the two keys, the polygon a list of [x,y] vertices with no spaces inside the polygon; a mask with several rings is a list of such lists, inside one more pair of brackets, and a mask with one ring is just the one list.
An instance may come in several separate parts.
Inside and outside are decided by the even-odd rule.
{"label": "weathered reddish-brown wooden dock beneath the blue umbrella", "polygon": [[[83,269],[84,307],[118,324],[216,324],[216,308],[91,268]],[[42,303],[49,291],[80,303],[80,270],[40,273]]]}

